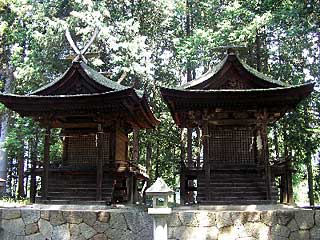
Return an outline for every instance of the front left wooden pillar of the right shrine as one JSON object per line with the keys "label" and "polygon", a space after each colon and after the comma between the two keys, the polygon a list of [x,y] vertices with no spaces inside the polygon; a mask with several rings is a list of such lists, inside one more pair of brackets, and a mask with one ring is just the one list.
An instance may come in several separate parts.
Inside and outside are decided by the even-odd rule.
{"label": "front left wooden pillar of the right shrine", "polygon": [[203,160],[206,179],[206,199],[210,200],[210,159],[209,159],[209,128],[207,116],[202,121]]}

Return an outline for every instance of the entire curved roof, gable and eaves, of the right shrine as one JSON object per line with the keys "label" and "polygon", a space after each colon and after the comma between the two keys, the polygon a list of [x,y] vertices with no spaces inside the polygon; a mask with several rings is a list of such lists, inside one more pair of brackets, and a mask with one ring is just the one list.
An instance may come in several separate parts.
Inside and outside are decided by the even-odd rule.
{"label": "entire curved roof, gable and eaves, of the right shrine", "polygon": [[[176,124],[188,127],[193,126],[193,118],[201,118],[197,115],[199,112],[214,112],[217,109],[219,112],[265,109],[270,113],[280,112],[282,116],[310,95],[313,88],[312,82],[288,85],[276,81],[230,52],[199,78],[174,88],[161,87],[160,91]],[[241,122],[243,119],[233,121]]]}

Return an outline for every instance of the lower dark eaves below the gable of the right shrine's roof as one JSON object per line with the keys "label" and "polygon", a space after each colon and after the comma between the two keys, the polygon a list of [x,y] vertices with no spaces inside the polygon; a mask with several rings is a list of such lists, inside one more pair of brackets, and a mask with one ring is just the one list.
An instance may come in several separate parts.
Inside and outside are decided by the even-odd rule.
{"label": "lower dark eaves below the gable of the right shrine's roof", "polygon": [[[256,112],[265,109],[270,114],[294,109],[313,90],[314,83],[269,89],[180,90],[161,88],[161,94],[179,127],[194,127],[190,122],[201,115],[194,112]],[[218,116],[219,117],[219,116]],[[231,119],[232,120],[232,119]],[[220,120],[218,120],[220,121]],[[243,124],[234,119],[233,124]],[[238,122],[237,122],[238,121]]]}

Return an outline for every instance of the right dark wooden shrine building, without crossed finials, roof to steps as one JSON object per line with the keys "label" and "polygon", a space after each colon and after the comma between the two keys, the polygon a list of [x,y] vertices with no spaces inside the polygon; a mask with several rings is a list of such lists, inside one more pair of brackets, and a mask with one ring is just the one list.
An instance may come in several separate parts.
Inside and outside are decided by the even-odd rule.
{"label": "right dark wooden shrine building, without crossed finials, roof to steps", "polygon": [[[289,86],[263,75],[230,49],[198,79],[161,88],[175,123],[199,128],[201,151],[194,159],[192,141],[181,162],[180,198],[185,204],[270,204],[292,202],[290,161],[271,163],[267,126],[291,111],[314,84]],[[195,135],[195,134],[193,134]],[[191,135],[192,140],[192,135]]]}

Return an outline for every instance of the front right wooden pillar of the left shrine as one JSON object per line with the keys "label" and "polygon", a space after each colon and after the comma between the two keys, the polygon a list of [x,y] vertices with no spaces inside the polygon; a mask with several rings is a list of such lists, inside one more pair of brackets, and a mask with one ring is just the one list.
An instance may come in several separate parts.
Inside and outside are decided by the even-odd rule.
{"label": "front right wooden pillar of the left shrine", "polygon": [[98,132],[96,135],[97,138],[97,151],[98,151],[98,159],[97,159],[97,185],[96,185],[96,200],[101,201],[102,199],[102,180],[103,180],[103,159],[102,159],[102,137],[103,132],[101,129],[101,125],[98,126]]}

